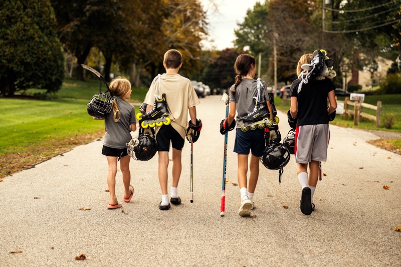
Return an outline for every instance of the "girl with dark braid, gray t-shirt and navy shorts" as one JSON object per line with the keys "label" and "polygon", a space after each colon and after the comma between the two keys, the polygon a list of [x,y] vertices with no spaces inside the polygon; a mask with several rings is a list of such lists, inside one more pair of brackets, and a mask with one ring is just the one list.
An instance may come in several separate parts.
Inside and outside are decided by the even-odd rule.
{"label": "girl with dark braid, gray t-shirt and navy shorts", "polygon": [[[272,107],[266,88],[266,83],[260,79],[255,80],[256,61],[248,54],[242,54],[237,57],[234,65],[237,74],[235,84],[230,88],[230,107],[229,115],[222,123],[221,133],[234,129],[236,126],[236,139],[234,152],[238,154],[238,183],[241,192],[240,216],[250,216],[251,209],[255,208],[253,196],[256,183],[259,178],[259,158],[265,148],[264,129],[255,129],[244,132],[241,126],[244,119],[254,111],[254,98],[259,96],[257,101],[266,102],[270,111],[270,119],[273,120]],[[258,83],[260,86],[258,86]],[[258,90],[260,88],[260,90]],[[260,91],[258,93],[258,91]],[[237,119],[235,115],[237,112]],[[251,151],[249,163],[250,176],[247,186],[248,156]]]}

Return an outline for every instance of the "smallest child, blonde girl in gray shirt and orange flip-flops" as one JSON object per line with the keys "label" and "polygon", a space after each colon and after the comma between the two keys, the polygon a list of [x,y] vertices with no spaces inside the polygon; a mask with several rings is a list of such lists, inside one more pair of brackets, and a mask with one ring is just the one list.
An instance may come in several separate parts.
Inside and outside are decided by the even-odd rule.
{"label": "smallest child, blonde girl in gray shirt and orange flip-flops", "polygon": [[[108,163],[107,185],[110,192],[108,209],[122,207],[117,201],[115,194],[117,161],[120,161],[122,180],[124,183],[124,202],[131,201],[134,187],[130,185],[131,173],[129,171],[130,156],[127,153],[126,144],[131,141],[130,132],[136,130],[136,119],[134,107],[126,102],[131,98],[131,84],[127,79],[116,77],[110,83],[110,94],[112,96],[112,111],[105,115],[102,154],[106,156]],[[94,120],[99,120],[93,117]],[[103,119],[102,119],[103,120]]]}

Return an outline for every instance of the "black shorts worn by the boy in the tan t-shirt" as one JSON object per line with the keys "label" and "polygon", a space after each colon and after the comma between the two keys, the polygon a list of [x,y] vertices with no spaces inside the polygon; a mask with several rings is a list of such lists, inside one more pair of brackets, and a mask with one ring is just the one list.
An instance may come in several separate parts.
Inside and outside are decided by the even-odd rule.
{"label": "black shorts worn by the boy in the tan t-shirt", "polygon": [[156,134],[157,151],[170,151],[170,141],[172,148],[182,150],[184,146],[184,139],[179,133],[169,125],[163,125],[160,127]]}

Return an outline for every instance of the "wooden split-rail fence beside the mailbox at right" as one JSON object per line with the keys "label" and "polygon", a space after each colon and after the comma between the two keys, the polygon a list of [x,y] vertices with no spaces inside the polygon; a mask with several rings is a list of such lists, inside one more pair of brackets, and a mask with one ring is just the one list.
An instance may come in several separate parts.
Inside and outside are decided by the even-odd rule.
{"label": "wooden split-rail fence beside the mailbox at right", "polygon": [[[349,109],[349,106],[354,106],[353,110]],[[376,116],[363,112],[363,108],[373,109],[376,111]],[[344,100],[344,120],[348,120],[348,115],[354,115],[354,125],[358,125],[361,121],[361,117],[368,118],[369,120],[376,121],[376,127],[380,127],[380,113],[381,113],[381,101],[377,101],[377,106],[363,103],[363,101],[350,101],[349,97]]]}

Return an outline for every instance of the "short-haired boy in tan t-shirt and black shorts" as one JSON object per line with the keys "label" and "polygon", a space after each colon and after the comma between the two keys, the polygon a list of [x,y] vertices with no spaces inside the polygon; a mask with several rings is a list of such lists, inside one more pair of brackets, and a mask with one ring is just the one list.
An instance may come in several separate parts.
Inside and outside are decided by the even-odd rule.
{"label": "short-haired boy in tan t-shirt and black shorts", "polygon": [[[154,95],[166,95],[168,106],[168,117],[171,120],[169,125],[162,125],[156,128],[157,150],[159,155],[158,176],[161,188],[161,202],[159,208],[166,210],[170,208],[170,201],[173,204],[180,204],[181,198],[178,196],[177,187],[181,175],[181,151],[186,138],[195,142],[199,138],[202,122],[196,119],[196,108],[199,99],[191,82],[178,74],[182,66],[182,55],[179,51],[171,49],[164,54],[163,66],[166,73],[159,77],[159,81],[152,83],[145,98],[147,104],[146,112],[153,109]],[[160,82],[160,83],[159,83]],[[157,86],[159,85],[159,88]],[[155,92],[156,91],[156,92]],[[188,122],[188,111],[190,121]],[[168,152],[172,146],[172,185],[170,197],[167,193],[167,167]]]}

